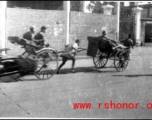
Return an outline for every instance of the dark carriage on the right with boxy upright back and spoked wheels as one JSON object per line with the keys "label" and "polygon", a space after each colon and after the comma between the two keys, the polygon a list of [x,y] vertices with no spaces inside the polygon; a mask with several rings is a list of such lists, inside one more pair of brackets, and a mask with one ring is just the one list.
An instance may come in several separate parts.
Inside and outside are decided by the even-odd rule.
{"label": "dark carriage on the right with boxy upright back and spoked wheels", "polygon": [[88,37],[87,55],[93,57],[97,68],[103,68],[108,59],[113,60],[117,71],[123,71],[128,66],[129,49],[118,41],[102,40],[101,37]]}

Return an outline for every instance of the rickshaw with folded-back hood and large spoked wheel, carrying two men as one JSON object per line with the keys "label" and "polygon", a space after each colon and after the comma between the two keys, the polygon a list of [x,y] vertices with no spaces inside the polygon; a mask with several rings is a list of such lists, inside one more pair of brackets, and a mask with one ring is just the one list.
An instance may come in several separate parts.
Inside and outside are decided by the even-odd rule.
{"label": "rickshaw with folded-back hood and large spoked wheel, carrying two men", "polygon": [[[56,50],[51,47],[37,46],[34,42],[16,36],[9,36],[8,40],[13,44],[21,45],[22,48],[25,49],[25,52],[20,57],[32,60],[32,62],[34,61],[36,67],[33,73],[38,79],[49,79],[56,73],[58,68],[58,55]],[[9,59],[12,60],[12,58]],[[3,61],[4,60],[5,59],[3,59]],[[20,72],[20,70],[17,69],[17,72]]]}

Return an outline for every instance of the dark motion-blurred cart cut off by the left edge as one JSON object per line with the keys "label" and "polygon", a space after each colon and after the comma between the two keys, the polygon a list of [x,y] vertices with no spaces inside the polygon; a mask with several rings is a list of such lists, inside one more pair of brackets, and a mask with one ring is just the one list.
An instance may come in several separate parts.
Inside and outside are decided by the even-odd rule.
{"label": "dark motion-blurred cart cut off by the left edge", "polygon": [[[10,49],[0,49],[0,53]],[[0,77],[20,73],[21,76],[34,72],[36,64],[33,60],[22,57],[0,56]]]}

